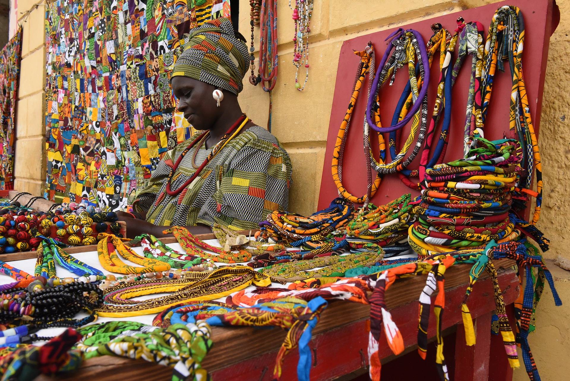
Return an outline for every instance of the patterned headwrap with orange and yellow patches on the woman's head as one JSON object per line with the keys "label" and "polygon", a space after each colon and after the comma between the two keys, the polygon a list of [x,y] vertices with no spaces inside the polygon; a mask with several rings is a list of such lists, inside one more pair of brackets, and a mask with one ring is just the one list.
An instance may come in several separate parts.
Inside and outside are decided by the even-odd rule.
{"label": "patterned headwrap with orange and yellow patches on the woman's head", "polygon": [[187,76],[238,95],[249,59],[247,46],[235,37],[230,19],[222,17],[190,30],[172,78]]}

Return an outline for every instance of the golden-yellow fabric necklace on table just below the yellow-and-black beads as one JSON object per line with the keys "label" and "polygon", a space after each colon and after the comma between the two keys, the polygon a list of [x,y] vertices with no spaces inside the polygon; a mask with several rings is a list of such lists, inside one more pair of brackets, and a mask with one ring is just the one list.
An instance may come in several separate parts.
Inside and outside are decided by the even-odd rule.
{"label": "golden-yellow fabric necklace on table just below the yellow-and-black beads", "polygon": [[[108,233],[100,233],[98,238],[100,241],[97,244],[97,255],[99,262],[107,271],[120,274],[138,274],[170,270],[170,265],[165,262],[141,257],[133,252],[129,246],[124,244],[124,241],[129,241],[126,238],[119,238]],[[129,266],[121,261],[119,254],[126,260],[145,267]]]}

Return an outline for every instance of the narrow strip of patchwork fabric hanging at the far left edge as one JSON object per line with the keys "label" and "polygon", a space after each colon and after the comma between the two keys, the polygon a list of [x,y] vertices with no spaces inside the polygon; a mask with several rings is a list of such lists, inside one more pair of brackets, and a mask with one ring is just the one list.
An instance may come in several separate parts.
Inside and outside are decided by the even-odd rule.
{"label": "narrow strip of patchwork fabric hanging at the far left edge", "polygon": [[16,99],[22,59],[22,27],[0,51],[0,189],[14,189]]}

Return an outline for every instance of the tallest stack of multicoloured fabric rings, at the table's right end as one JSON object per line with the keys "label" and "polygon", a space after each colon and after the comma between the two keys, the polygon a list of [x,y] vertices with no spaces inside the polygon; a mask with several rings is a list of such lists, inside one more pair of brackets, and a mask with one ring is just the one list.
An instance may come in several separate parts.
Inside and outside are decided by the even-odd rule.
{"label": "tallest stack of multicoloured fabric rings, at the table's right end", "polygon": [[520,230],[509,219],[519,178],[518,141],[470,140],[469,157],[427,169],[421,183],[418,221],[409,228],[410,246],[421,256],[478,248],[491,240],[515,240]]}

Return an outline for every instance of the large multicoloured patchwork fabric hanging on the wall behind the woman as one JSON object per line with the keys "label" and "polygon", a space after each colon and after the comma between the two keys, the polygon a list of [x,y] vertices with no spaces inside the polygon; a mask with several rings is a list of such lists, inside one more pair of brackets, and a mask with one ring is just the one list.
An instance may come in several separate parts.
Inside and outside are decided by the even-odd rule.
{"label": "large multicoloured patchwork fabric hanging on the wall behind the woman", "polygon": [[191,135],[170,72],[229,0],[60,0],[46,10],[45,196],[125,208]]}

